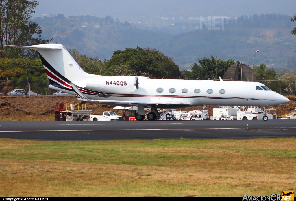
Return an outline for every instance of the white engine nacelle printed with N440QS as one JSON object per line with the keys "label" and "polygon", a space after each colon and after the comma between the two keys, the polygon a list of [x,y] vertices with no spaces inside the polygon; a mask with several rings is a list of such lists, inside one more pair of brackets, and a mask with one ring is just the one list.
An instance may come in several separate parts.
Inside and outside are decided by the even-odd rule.
{"label": "white engine nacelle printed with N440QS", "polygon": [[131,93],[139,89],[139,78],[135,76],[112,76],[86,81],[86,89],[103,93]]}

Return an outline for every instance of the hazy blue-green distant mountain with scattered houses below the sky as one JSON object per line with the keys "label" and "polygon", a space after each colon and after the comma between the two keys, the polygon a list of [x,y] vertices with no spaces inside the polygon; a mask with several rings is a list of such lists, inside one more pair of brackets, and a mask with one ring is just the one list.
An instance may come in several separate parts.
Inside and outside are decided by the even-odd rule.
{"label": "hazy blue-green distant mountain with scattered houses below the sky", "polygon": [[36,17],[33,21],[42,26],[43,38],[53,37],[53,43],[100,59],[109,59],[113,51],[126,47],[149,47],[173,57],[180,67],[188,68],[197,58],[210,55],[252,64],[254,53],[259,50],[255,65],[265,62],[269,67],[294,69],[291,58],[296,57],[296,37],[290,30],[296,23],[290,18],[284,14],[230,18],[225,20],[224,30],[223,19],[215,25],[220,30],[213,30],[211,23],[207,28],[208,19],[202,30],[196,19],[195,23],[145,24],[115,21],[111,16],[65,18],[60,14]]}

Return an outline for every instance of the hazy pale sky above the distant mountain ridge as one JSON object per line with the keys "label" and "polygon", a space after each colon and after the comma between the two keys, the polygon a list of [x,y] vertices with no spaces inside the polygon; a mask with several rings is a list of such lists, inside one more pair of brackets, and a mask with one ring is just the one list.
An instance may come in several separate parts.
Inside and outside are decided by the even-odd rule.
{"label": "hazy pale sky above the distant mountain ridge", "polygon": [[38,0],[32,17],[42,14],[91,15],[104,17],[111,15],[114,19],[139,20],[149,16],[155,17],[199,17],[223,15],[238,17],[250,14],[285,13],[294,15],[295,0]]}

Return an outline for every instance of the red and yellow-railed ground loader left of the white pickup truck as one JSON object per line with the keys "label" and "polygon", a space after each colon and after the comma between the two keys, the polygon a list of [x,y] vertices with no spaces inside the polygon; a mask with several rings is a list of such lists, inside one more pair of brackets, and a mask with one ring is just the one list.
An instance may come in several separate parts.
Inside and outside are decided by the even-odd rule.
{"label": "red and yellow-railed ground loader left of the white pickup truck", "polygon": [[[81,110],[80,110],[81,108]],[[84,109],[84,110],[83,110]],[[86,110],[86,104],[58,102],[54,110],[54,120],[61,121],[88,121],[92,110]]]}

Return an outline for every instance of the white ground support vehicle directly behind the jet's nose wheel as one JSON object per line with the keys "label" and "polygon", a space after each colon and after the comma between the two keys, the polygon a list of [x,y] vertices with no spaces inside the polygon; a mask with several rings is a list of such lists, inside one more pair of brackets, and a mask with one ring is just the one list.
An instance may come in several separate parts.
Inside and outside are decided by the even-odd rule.
{"label": "white ground support vehicle directly behind the jet's nose wheel", "polygon": [[240,107],[237,112],[237,120],[277,119],[276,109],[265,109],[253,106]]}

